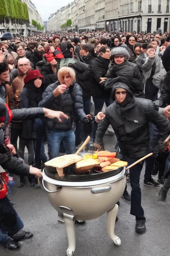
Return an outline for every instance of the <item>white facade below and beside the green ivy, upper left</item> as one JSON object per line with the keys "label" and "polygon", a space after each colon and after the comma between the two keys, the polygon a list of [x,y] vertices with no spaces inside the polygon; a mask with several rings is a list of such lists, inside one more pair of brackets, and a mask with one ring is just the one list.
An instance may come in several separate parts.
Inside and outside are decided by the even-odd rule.
{"label": "white facade below and beside the green ivy, upper left", "polygon": [[37,27],[32,26],[32,19],[35,20],[37,23],[40,23],[43,26],[43,21],[41,15],[38,13],[34,3],[31,0],[22,0],[23,3],[27,4],[28,12],[29,12],[29,22],[27,24],[16,24],[11,22],[11,19],[8,20],[6,23],[6,19],[4,23],[0,23],[0,37],[5,32],[10,32],[13,35],[24,35],[27,36],[29,33],[36,32]]}

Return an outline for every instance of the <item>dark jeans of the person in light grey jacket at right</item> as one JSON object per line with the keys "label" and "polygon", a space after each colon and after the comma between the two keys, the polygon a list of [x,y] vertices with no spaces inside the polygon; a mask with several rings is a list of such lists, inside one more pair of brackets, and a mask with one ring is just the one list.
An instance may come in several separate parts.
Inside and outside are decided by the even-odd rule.
{"label": "dark jeans of the person in light grey jacket at right", "polygon": [[145,98],[148,100],[156,100],[157,99],[157,93],[159,91],[159,88],[154,86],[152,83],[152,79],[146,80],[145,83]]}

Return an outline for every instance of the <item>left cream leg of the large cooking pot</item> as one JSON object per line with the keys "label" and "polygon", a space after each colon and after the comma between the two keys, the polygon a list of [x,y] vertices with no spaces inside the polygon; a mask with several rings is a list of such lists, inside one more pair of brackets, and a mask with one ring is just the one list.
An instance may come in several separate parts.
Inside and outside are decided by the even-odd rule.
{"label": "left cream leg of the large cooking pot", "polygon": [[63,218],[68,240],[67,256],[73,256],[76,247],[75,227],[73,221],[74,216],[64,213]]}

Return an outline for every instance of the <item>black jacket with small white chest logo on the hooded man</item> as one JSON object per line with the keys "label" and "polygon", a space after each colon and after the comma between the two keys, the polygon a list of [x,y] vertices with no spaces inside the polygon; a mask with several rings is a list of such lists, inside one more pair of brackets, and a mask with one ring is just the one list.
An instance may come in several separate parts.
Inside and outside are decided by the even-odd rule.
{"label": "black jacket with small white chest logo on the hooded man", "polygon": [[[129,91],[127,85],[117,87]],[[102,145],[103,136],[111,124],[117,139],[122,143],[121,151],[125,156],[141,158],[147,154],[149,122],[154,123],[160,131],[161,140],[170,133],[170,123],[154,109],[150,100],[133,97],[124,107],[115,101],[106,109],[105,115],[98,125],[95,142]]]}

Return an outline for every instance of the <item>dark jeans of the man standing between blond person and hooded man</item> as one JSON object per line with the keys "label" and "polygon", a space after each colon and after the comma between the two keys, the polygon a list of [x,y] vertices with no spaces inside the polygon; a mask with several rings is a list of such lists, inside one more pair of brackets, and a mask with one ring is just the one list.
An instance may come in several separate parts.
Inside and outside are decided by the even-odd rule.
{"label": "dark jeans of the man standing between blond person and hooded man", "polygon": [[[95,106],[95,111],[94,115],[96,116],[100,111],[102,111],[104,103],[108,107],[110,105],[109,98],[102,98],[102,99],[97,99],[93,98],[94,106]],[[93,124],[93,142],[95,142],[95,136],[96,136],[96,131],[97,131],[98,124],[94,121]]]}

